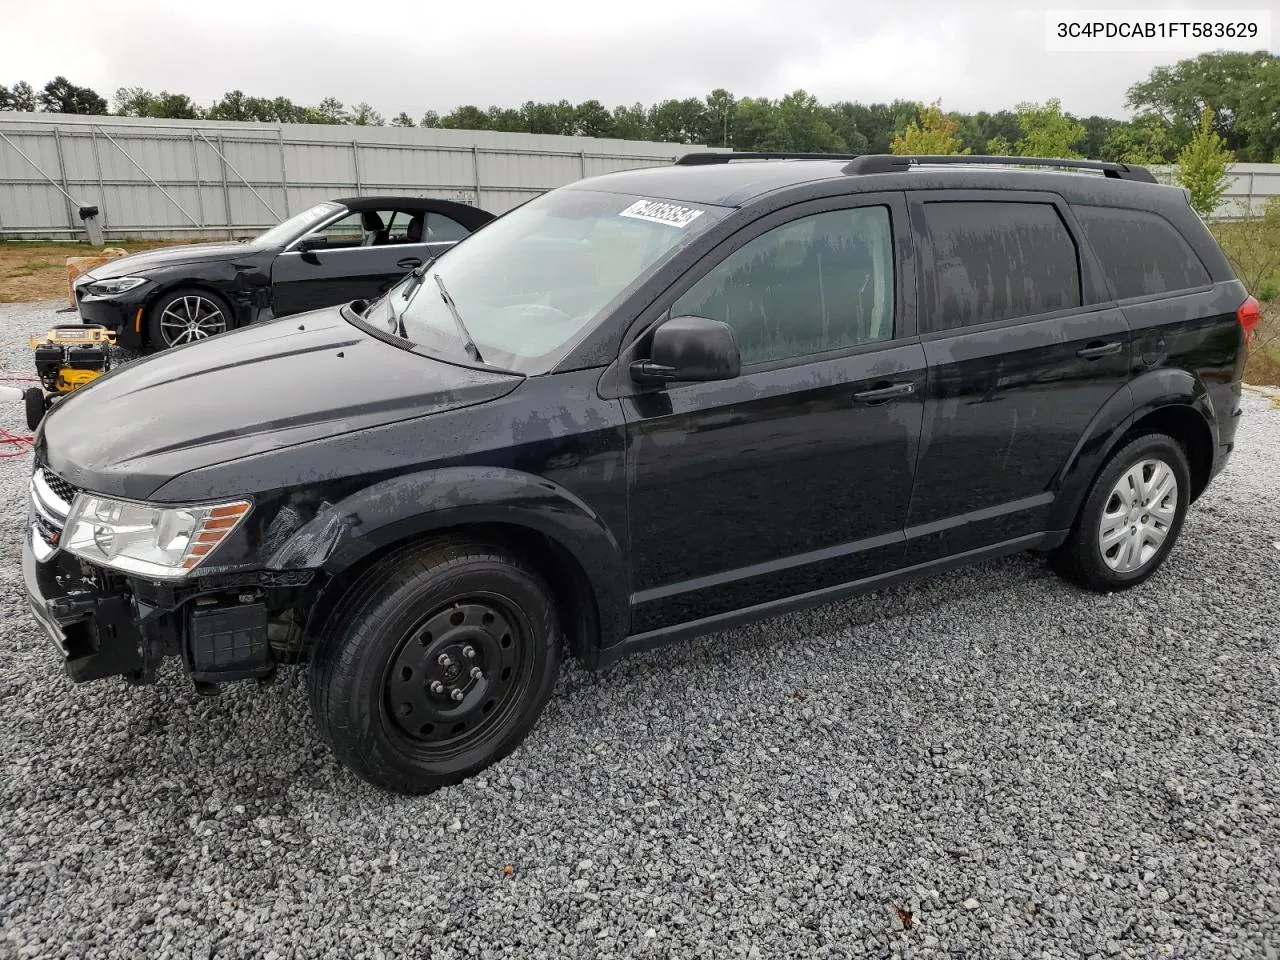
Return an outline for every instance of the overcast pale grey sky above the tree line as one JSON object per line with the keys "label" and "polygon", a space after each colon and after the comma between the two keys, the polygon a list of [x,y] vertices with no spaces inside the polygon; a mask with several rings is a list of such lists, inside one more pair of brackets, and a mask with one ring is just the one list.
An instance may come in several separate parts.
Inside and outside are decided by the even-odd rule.
{"label": "overcast pale grey sky above the tree line", "polygon": [[1124,115],[1132,83],[1193,54],[1047,52],[1043,10],[1089,5],[1106,4],[0,0],[0,83],[38,88],[64,74],[108,100],[141,86],[202,105],[234,88],[305,105],[335,96],[388,119],[525,100],[652,104],[714,87],[769,97],[803,87],[823,101],[942,97],[965,111],[1057,96],[1075,114]]}

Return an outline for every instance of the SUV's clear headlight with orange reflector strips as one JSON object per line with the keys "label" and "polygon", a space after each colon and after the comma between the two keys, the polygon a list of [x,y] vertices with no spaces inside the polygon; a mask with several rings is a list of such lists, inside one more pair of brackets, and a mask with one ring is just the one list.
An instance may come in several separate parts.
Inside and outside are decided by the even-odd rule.
{"label": "SUV's clear headlight with orange reflector strips", "polygon": [[68,553],[143,577],[187,576],[248,515],[247,500],[161,507],[79,493],[63,530]]}

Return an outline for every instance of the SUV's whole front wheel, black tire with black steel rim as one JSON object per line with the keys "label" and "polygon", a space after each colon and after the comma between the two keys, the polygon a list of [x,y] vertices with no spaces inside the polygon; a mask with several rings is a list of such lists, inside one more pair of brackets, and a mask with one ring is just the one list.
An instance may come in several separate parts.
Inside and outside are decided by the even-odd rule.
{"label": "SUV's whole front wheel, black tire with black steel rim", "polygon": [[388,557],[343,596],[312,657],[320,737],[401,794],[457,783],[532,730],[559,672],[550,590],[477,541]]}

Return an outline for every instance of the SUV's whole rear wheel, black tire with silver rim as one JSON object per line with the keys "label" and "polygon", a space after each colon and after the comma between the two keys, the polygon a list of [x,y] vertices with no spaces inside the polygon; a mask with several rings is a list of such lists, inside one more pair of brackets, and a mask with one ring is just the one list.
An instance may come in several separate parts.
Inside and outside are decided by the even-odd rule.
{"label": "SUV's whole rear wheel, black tire with silver rim", "polygon": [[1187,453],[1172,436],[1152,433],[1129,440],[1094,479],[1050,564],[1089,590],[1137,586],[1178,541],[1190,486]]}

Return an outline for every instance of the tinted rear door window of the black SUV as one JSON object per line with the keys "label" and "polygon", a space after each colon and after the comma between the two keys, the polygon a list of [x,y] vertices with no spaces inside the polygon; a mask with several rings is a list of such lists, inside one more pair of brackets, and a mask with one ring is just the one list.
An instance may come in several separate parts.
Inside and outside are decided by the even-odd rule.
{"label": "tinted rear door window of the black SUV", "polygon": [[924,221],[925,333],[1080,305],[1075,241],[1052,204],[937,201],[924,205]]}

